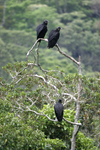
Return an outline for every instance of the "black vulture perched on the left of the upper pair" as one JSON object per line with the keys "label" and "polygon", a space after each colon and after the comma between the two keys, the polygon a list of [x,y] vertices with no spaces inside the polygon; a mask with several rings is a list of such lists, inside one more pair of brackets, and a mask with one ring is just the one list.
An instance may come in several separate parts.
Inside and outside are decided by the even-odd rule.
{"label": "black vulture perched on the left of the upper pair", "polygon": [[[47,20],[44,20],[42,24],[40,24],[37,28],[36,28],[36,31],[37,31],[37,39],[39,38],[44,38],[46,32],[48,31],[47,29],[47,24],[48,24],[48,21]],[[40,42],[41,40],[39,40]]]}

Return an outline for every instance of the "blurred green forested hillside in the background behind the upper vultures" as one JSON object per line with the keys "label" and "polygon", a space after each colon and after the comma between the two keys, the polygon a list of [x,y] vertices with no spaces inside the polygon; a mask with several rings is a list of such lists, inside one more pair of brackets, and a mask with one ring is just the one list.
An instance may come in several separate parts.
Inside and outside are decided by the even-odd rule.
{"label": "blurred green forested hillside in the background behind the upper vultures", "polygon": [[[48,33],[51,29],[62,27],[58,42],[62,50],[70,53],[76,60],[80,55],[83,69],[87,73],[100,71],[99,7],[99,0],[1,1],[0,76],[5,76],[2,66],[8,62],[14,64],[16,61],[26,61],[26,53],[36,41],[36,27],[45,19],[49,21]],[[56,48],[48,50],[47,45],[42,42],[40,54],[44,68],[55,69],[62,66],[66,73],[76,72],[76,67],[64,57],[55,57],[55,51]],[[48,60],[48,63],[43,60]]]}

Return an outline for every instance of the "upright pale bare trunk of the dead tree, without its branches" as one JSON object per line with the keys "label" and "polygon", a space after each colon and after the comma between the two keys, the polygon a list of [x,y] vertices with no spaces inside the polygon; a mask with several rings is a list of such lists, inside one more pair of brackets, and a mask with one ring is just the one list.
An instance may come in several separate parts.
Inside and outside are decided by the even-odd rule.
{"label": "upright pale bare trunk of the dead tree, without its branches", "polygon": [[[81,75],[81,59],[79,56],[79,75]],[[75,114],[75,123],[78,123],[79,114],[80,114],[80,96],[81,96],[81,79],[79,78],[79,84],[78,84],[78,98],[76,102],[76,114]],[[76,137],[79,132],[79,126],[74,125],[74,131],[71,139],[71,150],[75,150],[76,145]]]}

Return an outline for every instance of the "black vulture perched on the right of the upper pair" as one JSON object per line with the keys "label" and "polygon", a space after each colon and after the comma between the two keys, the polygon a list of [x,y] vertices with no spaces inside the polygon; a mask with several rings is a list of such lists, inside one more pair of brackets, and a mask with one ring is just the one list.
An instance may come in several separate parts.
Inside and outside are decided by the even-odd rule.
{"label": "black vulture perched on the right of the upper pair", "polygon": [[59,36],[60,36],[60,29],[61,29],[61,27],[58,27],[56,30],[52,30],[49,33],[48,48],[53,48],[55,46],[55,44],[57,43]]}

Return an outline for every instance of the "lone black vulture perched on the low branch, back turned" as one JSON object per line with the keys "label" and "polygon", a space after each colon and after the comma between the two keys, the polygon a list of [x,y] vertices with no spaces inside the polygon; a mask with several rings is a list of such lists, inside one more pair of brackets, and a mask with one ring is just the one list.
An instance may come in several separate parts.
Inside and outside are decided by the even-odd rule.
{"label": "lone black vulture perched on the low branch, back turned", "polygon": [[55,114],[56,114],[58,121],[62,121],[63,119],[63,109],[64,108],[63,108],[62,100],[59,99],[58,102],[54,106]]}

